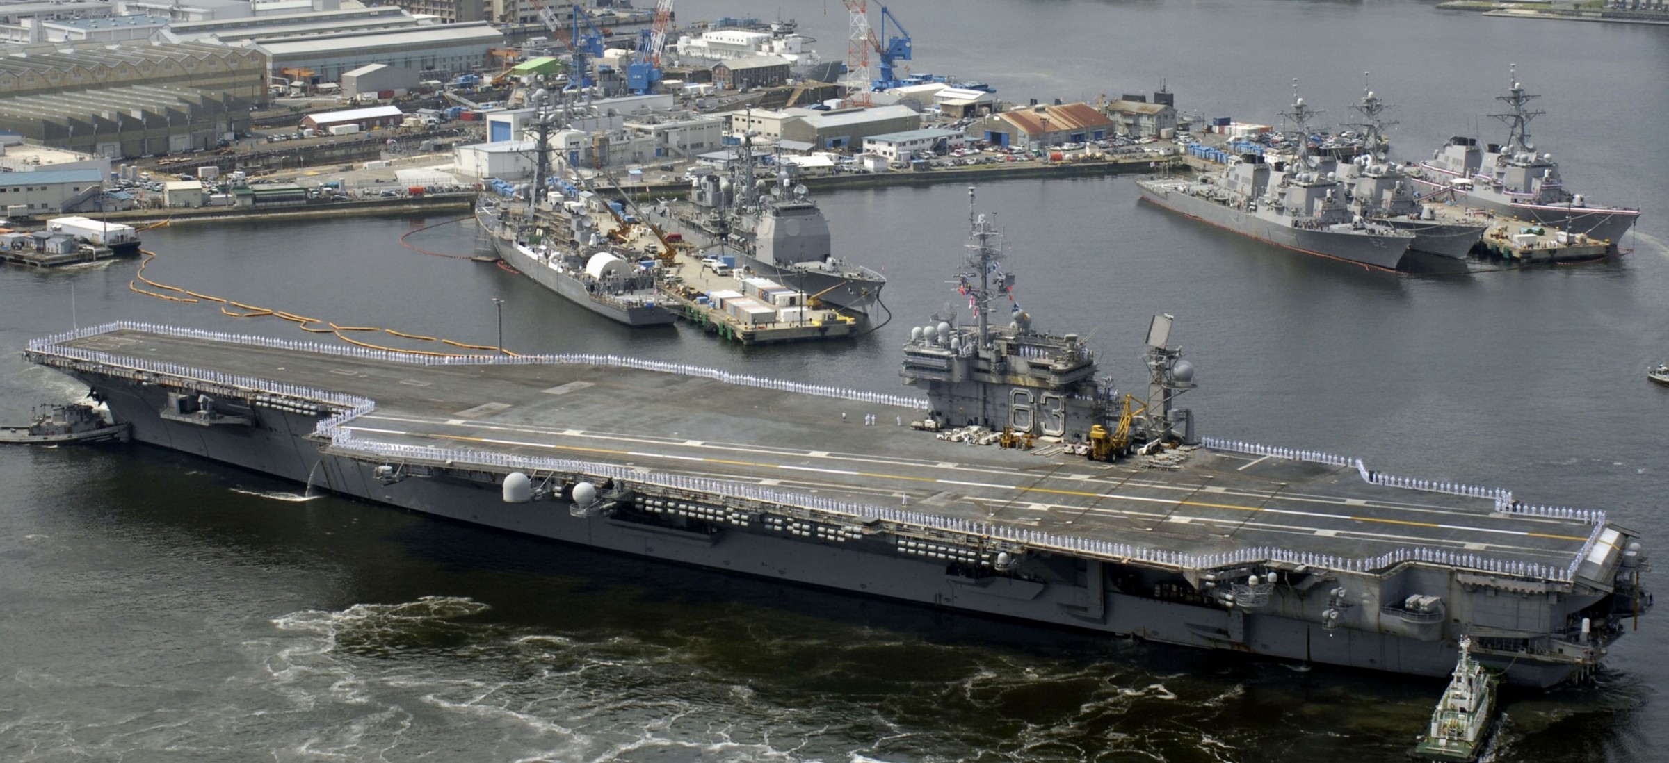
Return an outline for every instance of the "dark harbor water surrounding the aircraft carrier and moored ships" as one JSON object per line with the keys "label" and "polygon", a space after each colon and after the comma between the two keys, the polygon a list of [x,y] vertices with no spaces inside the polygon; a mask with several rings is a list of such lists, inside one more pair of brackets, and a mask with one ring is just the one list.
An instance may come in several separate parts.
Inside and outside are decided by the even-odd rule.
{"label": "dark harbor water surrounding the aircraft carrier and moored ships", "polygon": [[[840,57],[841,3],[803,5],[781,13]],[[1327,122],[1345,120],[1360,73],[1374,72],[1374,90],[1400,105],[1399,158],[1449,135],[1504,135],[1485,113],[1517,63],[1544,93],[1530,130],[1566,183],[1642,208],[1621,260],[1369,273],[1142,205],[1130,178],[998,182],[978,203],[1013,245],[1018,305],[1038,328],[1088,337],[1125,390],[1145,380],[1148,317],[1177,317],[1172,337],[1198,367],[1185,403],[1202,433],[1602,508],[1669,553],[1669,390],[1644,378],[1669,357],[1669,158],[1657,147],[1669,107],[1654,75],[1669,68],[1669,30],[1430,3],[890,7],[916,35],[915,70],[980,78],[1006,98],[1115,98],[1165,82],[1183,112],[1267,123],[1298,77]],[[776,18],[779,3],[688,0],[678,12]],[[145,275],[484,345],[497,342],[497,297],[504,345],[522,353],[906,391],[900,345],[960,302],[946,273],[963,252],[968,190],[819,202],[840,253],[890,278],[891,322],[855,342],[743,348],[633,332],[494,265],[399,242],[416,232],[424,250],[472,255],[484,238],[469,220],[179,225],[145,233],[159,253]],[[135,293],[135,268],[0,270],[0,347],[108,320],[317,338]],[[0,418],[82,391],[0,357]],[[1394,761],[1442,691],[1440,680],[1088,638],[592,553],[137,445],[3,450],[0,491],[5,761]],[[1659,756],[1666,636],[1652,613],[1591,685],[1507,691],[1492,760]]]}

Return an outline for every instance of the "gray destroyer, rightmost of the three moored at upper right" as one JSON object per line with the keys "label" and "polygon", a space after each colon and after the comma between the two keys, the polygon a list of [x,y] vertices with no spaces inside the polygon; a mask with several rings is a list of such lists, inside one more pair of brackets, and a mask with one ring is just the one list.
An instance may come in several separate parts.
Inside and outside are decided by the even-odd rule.
{"label": "gray destroyer, rightmost of the three moored at upper right", "polygon": [[1507,105],[1507,112],[1490,115],[1507,125],[1507,145],[1489,143],[1479,150],[1475,138],[1449,138],[1447,145],[1432,152],[1430,162],[1420,162],[1415,180],[1427,198],[1452,197],[1455,203],[1500,217],[1584,233],[1611,242],[1611,252],[1617,252],[1617,242],[1634,227],[1641,212],[1592,207],[1581,193],[1564,188],[1554,155],[1535,153],[1535,145],[1530,143],[1530,120],[1545,113],[1525,108],[1534,98],[1539,95],[1525,93],[1524,85],[1514,82],[1507,95],[1495,97]]}

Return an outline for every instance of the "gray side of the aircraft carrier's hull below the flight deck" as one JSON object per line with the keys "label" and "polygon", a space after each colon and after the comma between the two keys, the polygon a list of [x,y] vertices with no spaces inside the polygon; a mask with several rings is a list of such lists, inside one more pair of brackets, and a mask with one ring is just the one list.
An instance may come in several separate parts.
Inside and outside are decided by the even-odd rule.
{"label": "gray side of the aircraft carrier's hull below the flight deck", "polygon": [[[449,520],[759,578],[1160,643],[1424,676],[1444,676],[1454,670],[1454,648],[1440,640],[1325,630],[1320,623],[1275,615],[1237,618],[1218,608],[1132,596],[1107,588],[1112,570],[1103,570],[1100,563],[1088,563],[1085,570],[1087,576],[1098,578],[1098,585],[980,585],[946,575],[945,563],[935,560],[794,543],[769,535],[723,533],[711,538],[604,516],[574,518],[562,505],[551,503],[506,505],[497,485],[491,483],[406,480],[382,485],[374,475],[376,463],[320,453],[320,443],[307,436],[319,416],[282,413],[262,416],[264,426],[254,430],[204,428],[160,420],[155,411],[164,406],[165,395],[157,388],[110,385],[100,377],[82,377],[82,382],[98,390],[115,420],[132,426],[135,441],[297,483],[310,478],[315,488]],[[1232,633],[1242,633],[1243,643],[1232,641]],[[1519,665],[1509,678],[1552,686],[1572,680],[1572,668]]]}

